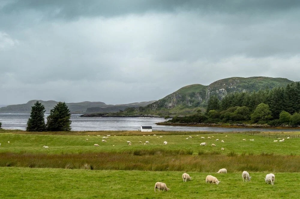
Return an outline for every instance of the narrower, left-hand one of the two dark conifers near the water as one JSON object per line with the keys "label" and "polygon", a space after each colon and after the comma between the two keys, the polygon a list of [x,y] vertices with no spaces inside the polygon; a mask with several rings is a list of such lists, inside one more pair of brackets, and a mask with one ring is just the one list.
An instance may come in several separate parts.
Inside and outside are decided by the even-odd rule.
{"label": "narrower, left-hand one of the two dark conifers near the water", "polygon": [[30,118],[27,121],[26,131],[44,131],[45,130],[45,107],[39,101],[31,107]]}

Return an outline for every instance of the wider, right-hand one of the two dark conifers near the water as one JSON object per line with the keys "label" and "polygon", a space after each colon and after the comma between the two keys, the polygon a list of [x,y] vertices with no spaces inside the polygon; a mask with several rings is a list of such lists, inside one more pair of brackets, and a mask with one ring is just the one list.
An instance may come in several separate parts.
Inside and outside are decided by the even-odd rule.
{"label": "wider, right-hand one of the two dark conifers near the water", "polygon": [[46,128],[48,131],[70,131],[71,130],[71,114],[66,103],[58,102],[50,115],[47,117]]}

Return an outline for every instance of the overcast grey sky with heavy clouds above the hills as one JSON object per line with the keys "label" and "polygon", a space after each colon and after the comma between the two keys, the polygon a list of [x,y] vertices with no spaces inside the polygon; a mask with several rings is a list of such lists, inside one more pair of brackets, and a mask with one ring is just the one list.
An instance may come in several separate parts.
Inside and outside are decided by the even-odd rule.
{"label": "overcast grey sky with heavy clouds above the hills", "polygon": [[124,104],[229,77],[300,81],[297,0],[0,0],[0,104]]}

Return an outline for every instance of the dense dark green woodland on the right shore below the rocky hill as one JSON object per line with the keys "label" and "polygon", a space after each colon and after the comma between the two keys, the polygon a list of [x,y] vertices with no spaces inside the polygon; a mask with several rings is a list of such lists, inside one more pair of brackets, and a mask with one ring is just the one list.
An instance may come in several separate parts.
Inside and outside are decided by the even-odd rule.
{"label": "dense dark green woodland on the right shore below the rocky hill", "polygon": [[170,123],[258,123],[300,125],[300,83],[258,92],[236,92],[223,99],[210,96],[206,113],[174,117]]}

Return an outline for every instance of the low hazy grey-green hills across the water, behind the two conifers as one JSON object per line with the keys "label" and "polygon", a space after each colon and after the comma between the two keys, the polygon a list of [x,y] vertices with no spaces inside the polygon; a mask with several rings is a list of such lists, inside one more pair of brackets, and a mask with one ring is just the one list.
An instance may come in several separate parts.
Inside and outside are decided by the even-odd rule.
{"label": "low hazy grey-green hills across the water, behind the two conifers", "polygon": [[[57,101],[49,100],[31,100],[26,104],[16,104],[16,105],[8,105],[6,107],[0,108],[0,113],[30,113],[31,107],[35,104],[36,101],[44,104],[46,113],[49,113],[50,110],[58,103]],[[122,104],[122,105],[112,105],[105,104],[104,102],[78,102],[78,103],[66,103],[69,107],[71,113],[95,113],[95,110],[104,111],[104,113],[108,112],[118,112],[119,110],[125,110],[128,107],[140,107],[151,104],[155,101],[150,102],[135,102],[131,104]]]}

